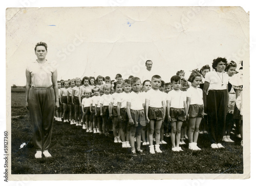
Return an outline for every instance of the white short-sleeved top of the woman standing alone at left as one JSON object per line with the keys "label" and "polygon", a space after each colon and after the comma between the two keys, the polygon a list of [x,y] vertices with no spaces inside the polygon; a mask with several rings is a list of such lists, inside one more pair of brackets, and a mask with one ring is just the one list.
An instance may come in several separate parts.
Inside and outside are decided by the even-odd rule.
{"label": "white short-sleeved top of the woman standing alone at left", "polygon": [[56,71],[56,64],[46,61],[41,65],[35,60],[28,64],[27,70],[31,75],[31,87],[47,88],[52,86],[52,74]]}

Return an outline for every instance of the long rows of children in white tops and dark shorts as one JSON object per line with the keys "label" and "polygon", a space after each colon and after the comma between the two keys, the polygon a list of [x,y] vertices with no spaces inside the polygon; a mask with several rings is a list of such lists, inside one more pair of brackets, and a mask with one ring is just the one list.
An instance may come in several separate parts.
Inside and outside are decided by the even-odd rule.
{"label": "long rows of children in white tops and dark shorts", "polygon": [[[230,70],[233,66],[227,65],[229,76],[234,74],[233,68]],[[150,153],[161,153],[159,145],[166,144],[164,134],[165,137],[170,136],[173,151],[182,151],[180,145],[185,144],[186,137],[189,149],[201,150],[197,146],[197,140],[199,126],[205,114],[200,88],[209,71],[208,65],[203,66],[200,71],[193,70],[186,81],[184,71],[181,70],[166,84],[159,75],[154,75],[151,81],[146,80],[141,84],[138,77],[123,81],[120,74],[116,75],[115,82],[111,82],[110,77],[102,76],[58,82],[63,114],[60,109],[56,112],[56,117],[61,121],[60,117],[63,116],[63,122],[70,121],[70,124],[82,126],[87,132],[109,135],[112,129],[114,142],[122,143],[123,148],[131,147],[133,154],[136,154],[136,150],[137,153],[143,153],[140,149],[141,140],[142,145],[150,145]],[[61,88],[61,85],[64,87]],[[186,135],[187,123],[189,127]],[[204,126],[203,130],[205,128]],[[224,135],[225,141],[233,142],[230,130],[226,131],[229,135]]]}

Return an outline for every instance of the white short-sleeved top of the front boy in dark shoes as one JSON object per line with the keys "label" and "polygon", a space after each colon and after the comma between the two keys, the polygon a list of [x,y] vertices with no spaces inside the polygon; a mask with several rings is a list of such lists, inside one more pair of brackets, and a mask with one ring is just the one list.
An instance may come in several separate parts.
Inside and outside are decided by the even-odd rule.
{"label": "white short-sleeved top of the front boy in dark shoes", "polygon": [[130,99],[127,102],[131,103],[131,110],[139,111],[144,109],[145,97],[140,92],[137,94],[133,91],[130,93]]}

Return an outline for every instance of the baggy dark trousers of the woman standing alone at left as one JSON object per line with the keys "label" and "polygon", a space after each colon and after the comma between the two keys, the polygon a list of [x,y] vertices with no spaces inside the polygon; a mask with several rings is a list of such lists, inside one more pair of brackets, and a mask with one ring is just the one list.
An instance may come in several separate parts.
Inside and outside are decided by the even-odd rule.
{"label": "baggy dark trousers of the woman standing alone at left", "polygon": [[54,118],[55,94],[53,88],[31,87],[28,102],[34,146],[36,150],[47,150],[51,142]]}

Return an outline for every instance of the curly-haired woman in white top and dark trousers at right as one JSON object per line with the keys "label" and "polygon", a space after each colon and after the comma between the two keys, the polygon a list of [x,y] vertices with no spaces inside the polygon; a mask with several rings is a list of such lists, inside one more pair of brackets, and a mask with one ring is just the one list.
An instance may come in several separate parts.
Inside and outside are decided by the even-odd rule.
{"label": "curly-haired woman in white top and dark trousers at right", "polygon": [[206,73],[203,99],[204,112],[208,114],[211,148],[224,148],[221,144],[228,107],[228,75],[224,72],[227,65],[225,58],[212,62],[211,72]]}

